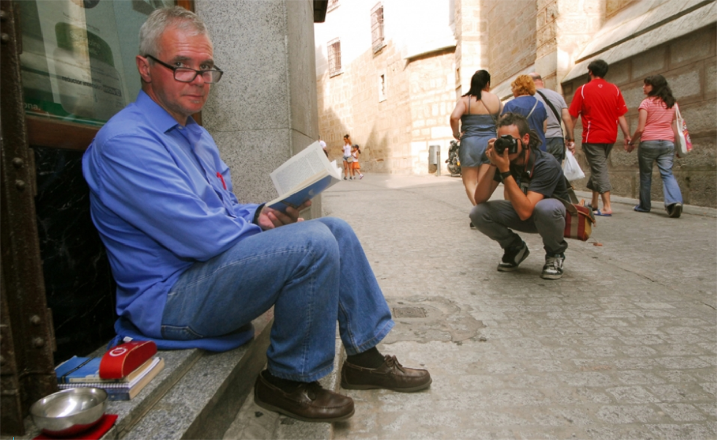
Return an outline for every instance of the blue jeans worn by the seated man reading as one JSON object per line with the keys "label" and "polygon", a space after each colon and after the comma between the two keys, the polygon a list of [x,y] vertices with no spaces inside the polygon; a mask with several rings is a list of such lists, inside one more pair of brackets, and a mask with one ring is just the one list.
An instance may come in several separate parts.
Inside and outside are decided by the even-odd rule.
{"label": "blue jeans worn by the seated man reading", "polygon": [[252,235],[183,273],[162,317],[166,339],[222,336],[274,306],[272,375],[311,382],[333,368],[336,321],[349,355],[376,346],[394,323],[364,249],[338,218]]}

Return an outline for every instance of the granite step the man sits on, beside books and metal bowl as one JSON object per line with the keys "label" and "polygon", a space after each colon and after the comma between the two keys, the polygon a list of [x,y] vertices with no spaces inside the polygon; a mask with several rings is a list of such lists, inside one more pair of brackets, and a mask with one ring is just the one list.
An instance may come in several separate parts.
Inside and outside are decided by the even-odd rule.
{"label": "granite step the man sits on, beside books and metal bowl", "polygon": [[[158,376],[133,399],[108,402],[107,414],[119,417],[102,440],[222,439],[266,364],[271,313],[253,323],[255,338],[231,351],[159,351],[166,366]],[[32,440],[40,434],[29,417],[25,426],[25,436],[0,440]]]}

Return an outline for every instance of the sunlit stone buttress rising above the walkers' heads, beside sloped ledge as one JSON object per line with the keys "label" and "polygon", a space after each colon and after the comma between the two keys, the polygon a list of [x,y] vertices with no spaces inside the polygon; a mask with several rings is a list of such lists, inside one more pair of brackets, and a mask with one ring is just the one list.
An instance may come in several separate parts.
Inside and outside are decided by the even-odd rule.
{"label": "sunlit stone buttress rising above the walkers' heads, beside sloped ledge", "polygon": [[561,92],[561,79],[605,21],[605,0],[538,0],[536,72]]}

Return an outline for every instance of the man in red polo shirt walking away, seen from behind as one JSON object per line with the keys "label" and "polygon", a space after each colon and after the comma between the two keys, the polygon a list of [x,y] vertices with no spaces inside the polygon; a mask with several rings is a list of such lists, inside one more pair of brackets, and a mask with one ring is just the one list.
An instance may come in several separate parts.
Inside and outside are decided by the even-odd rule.
{"label": "man in red polo shirt walking away, seen from behind", "polygon": [[[625,113],[627,105],[620,89],[603,77],[607,74],[607,62],[596,59],[588,65],[590,82],[579,87],[570,103],[573,125],[582,116],[582,149],[590,165],[590,180],[587,187],[592,191],[590,206],[596,215],[612,215],[610,205],[610,180],[607,175],[607,157],[617,141],[617,124],[630,142],[630,127],[627,127]],[[597,196],[602,196],[602,210],[598,210]]]}

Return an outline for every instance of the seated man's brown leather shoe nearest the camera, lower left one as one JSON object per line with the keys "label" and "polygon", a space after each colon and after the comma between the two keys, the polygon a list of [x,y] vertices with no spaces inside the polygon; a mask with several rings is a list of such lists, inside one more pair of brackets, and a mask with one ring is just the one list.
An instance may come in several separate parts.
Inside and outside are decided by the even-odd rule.
{"label": "seated man's brown leather shoe nearest the camera, lower left one", "polygon": [[287,392],[273,386],[259,373],[254,383],[254,401],[270,411],[301,421],[342,421],[353,416],[353,399],[328,391],[318,382],[302,383]]}

